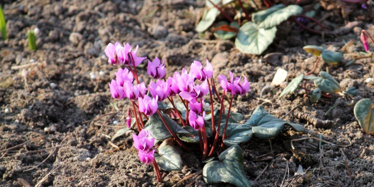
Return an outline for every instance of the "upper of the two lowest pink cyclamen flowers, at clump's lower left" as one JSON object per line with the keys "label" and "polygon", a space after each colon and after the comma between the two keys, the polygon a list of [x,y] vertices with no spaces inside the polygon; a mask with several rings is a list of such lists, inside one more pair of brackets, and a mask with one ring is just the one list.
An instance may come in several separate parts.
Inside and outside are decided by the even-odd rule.
{"label": "upper of the two lowest pink cyclamen flowers, at clump's lower left", "polygon": [[138,151],[150,151],[155,145],[155,138],[153,138],[149,131],[142,129],[139,135],[133,134],[134,147]]}

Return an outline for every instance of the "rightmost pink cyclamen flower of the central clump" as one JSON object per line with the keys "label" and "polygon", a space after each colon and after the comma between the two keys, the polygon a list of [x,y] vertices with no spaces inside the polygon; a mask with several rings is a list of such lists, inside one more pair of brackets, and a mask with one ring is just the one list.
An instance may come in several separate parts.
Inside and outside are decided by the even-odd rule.
{"label": "rightmost pink cyclamen flower of the central clump", "polygon": [[[247,78],[244,77],[241,79],[241,77],[235,77],[230,71],[230,80],[226,79],[226,76],[224,75],[218,75],[218,80],[221,84],[221,87],[226,92],[230,92],[232,95],[243,95],[249,90],[249,82],[247,81]],[[241,81],[242,80],[242,81]]]}

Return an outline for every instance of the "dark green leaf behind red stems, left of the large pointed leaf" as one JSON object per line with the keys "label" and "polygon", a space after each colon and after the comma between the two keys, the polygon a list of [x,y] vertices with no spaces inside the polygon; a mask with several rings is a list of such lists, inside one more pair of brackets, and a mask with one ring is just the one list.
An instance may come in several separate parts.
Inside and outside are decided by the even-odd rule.
{"label": "dark green leaf behind red stems, left of the large pointed leaf", "polygon": [[[225,123],[221,123],[219,135],[223,135]],[[224,145],[227,147],[237,145],[243,142],[248,142],[252,138],[252,126],[239,123],[228,123],[226,129],[226,136],[223,140]]]}

